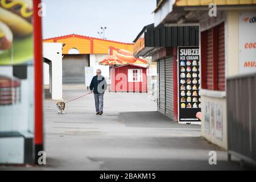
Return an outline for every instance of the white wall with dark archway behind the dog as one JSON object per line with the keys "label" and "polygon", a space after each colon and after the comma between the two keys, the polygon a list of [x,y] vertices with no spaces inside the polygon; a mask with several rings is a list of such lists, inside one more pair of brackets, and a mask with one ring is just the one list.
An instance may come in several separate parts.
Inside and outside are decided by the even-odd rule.
{"label": "white wall with dark archway behind the dog", "polygon": [[[52,99],[62,99],[62,43],[43,43],[43,57],[52,62]],[[47,68],[44,66],[44,68]],[[49,69],[44,69],[44,80],[49,80]],[[46,81],[47,82],[47,81]]]}

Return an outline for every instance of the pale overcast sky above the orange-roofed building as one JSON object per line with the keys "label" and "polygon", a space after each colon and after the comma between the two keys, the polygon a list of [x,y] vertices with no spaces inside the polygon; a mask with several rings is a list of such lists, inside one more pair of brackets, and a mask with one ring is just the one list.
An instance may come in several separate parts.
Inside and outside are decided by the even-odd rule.
{"label": "pale overcast sky above the orange-roofed building", "polygon": [[106,27],[105,38],[133,42],[142,28],[154,23],[152,11],[156,0],[43,0],[43,38],[67,34],[99,37]]}

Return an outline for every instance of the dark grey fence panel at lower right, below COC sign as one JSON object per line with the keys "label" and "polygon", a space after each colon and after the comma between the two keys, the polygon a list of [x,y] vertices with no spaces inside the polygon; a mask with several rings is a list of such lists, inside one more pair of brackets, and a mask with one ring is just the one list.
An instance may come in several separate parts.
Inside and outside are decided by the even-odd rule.
{"label": "dark grey fence panel at lower right, below COC sign", "polygon": [[227,78],[228,159],[256,165],[256,73]]}

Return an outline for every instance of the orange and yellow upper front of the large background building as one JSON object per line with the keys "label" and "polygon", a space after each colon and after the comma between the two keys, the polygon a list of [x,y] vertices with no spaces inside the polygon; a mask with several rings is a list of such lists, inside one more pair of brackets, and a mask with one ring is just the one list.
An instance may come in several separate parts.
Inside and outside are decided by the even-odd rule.
{"label": "orange and yellow upper front of the large background building", "polygon": [[133,52],[133,43],[123,43],[113,40],[98,39],[84,35],[70,34],[55,38],[44,39],[43,42],[59,42],[65,44],[63,54],[68,54],[72,48],[76,48],[80,54],[108,54],[109,46],[126,49]]}

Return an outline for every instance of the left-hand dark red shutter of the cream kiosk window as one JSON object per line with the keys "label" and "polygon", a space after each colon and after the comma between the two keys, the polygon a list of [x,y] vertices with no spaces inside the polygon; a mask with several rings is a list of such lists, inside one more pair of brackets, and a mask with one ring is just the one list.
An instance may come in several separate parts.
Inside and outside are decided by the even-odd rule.
{"label": "left-hand dark red shutter of the cream kiosk window", "polygon": [[213,90],[213,28],[207,31],[207,89]]}

